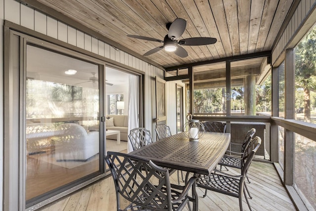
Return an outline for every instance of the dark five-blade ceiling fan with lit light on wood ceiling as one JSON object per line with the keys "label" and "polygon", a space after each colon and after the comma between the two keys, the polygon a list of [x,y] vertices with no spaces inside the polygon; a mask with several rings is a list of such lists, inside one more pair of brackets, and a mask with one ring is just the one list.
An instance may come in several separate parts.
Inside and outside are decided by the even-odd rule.
{"label": "dark five-blade ceiling fan with lit light on wood ceiling", "polygon": [[138,35],[127,35],[127,37],[163,43],[163,45],[146,52],[144,56],[151,55],[164,48],[165,51],[174,52],[178,56],[184,58],[188,56],[188,52],[180,45],[206,45],[217,42],[216,38],[187,38],[178,41],[184,33],[186,26],[187,21],[182,18],[176,18],[172,23],[167,23],[166,28],[168,34],[164,37],[163,41]]}

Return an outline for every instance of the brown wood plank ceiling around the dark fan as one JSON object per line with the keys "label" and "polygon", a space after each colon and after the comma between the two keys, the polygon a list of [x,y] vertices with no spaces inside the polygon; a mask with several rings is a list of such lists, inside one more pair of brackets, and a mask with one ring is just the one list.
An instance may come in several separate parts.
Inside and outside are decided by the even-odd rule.
{"label": "brown wood plank ceiling around the dark fan", "polygon": [[37,0],[106,38],[143,55],[161,45],[128,38],[163,40],[165,25],[187,21],[179,39],[213,37],[215,44],[183,46],[181,58],[160,50],[147,56],[163,67],[271,50],[294,0]]}

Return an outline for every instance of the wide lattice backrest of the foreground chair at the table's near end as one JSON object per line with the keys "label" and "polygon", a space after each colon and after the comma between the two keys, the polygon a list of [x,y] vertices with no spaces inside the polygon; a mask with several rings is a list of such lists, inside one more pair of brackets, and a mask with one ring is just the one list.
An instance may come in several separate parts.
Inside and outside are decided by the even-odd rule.
{"label": "wide lattice backrest of the foreground chair at the table's near end", "polygon": [[144,210],[172,211],[168,169],[118,152],[108,152],[105,160],[114,179],[118,210],[122,196]]}

